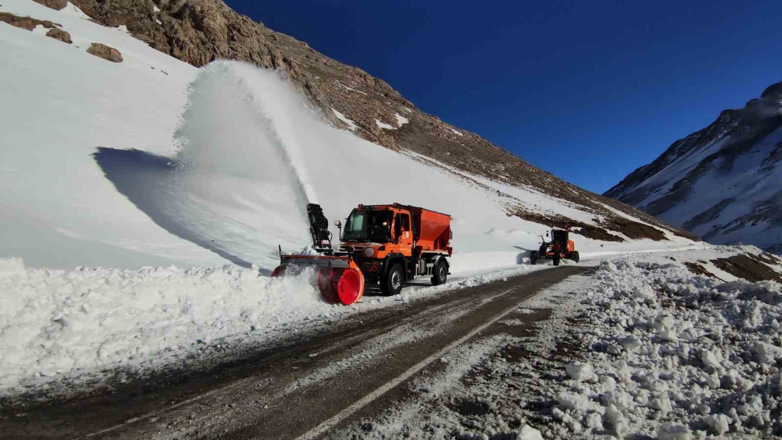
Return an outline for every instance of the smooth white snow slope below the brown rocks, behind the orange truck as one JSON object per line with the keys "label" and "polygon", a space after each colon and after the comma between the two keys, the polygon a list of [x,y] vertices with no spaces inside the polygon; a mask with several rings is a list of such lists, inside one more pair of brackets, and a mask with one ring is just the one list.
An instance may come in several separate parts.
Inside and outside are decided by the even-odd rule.
{"label": "smooth white snow slope below the brown rocks, behind the orange truck", "polygon": [[[332,221],[359,203],[447,212],[454,272],[515,265],[523,248],[536,248],[547,225],[508,215],[520,204],[628,238],[601,225],[610,222],[600,215],[531,187],[334,128],[274,71],[228,61],[197,70],[123,27],[91,23],[73,5],[56,11],[10,0],[0,10],[52,20],[74,40],[0,23],[13,60],[0,74],[14,85],[0,92],[13,109],[3,119],[0,203],[8,233],[0,236],[0,256],[56,268],[230,261],[268,271],[278,244],[286,251],[307,245],[307,201],[322,204]],[[118,49],[124,62],[92,56],[92,42]],[[575,238],[580,251],[689,243],[658,229],[669,240]]]}

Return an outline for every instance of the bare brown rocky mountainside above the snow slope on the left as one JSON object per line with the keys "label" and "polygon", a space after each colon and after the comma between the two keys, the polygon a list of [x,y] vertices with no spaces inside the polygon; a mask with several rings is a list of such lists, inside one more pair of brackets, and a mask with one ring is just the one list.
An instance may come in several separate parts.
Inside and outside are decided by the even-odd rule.
{"label": "bare brown rocky mountainside above the snow slope on the left", "polygon": [[[515,186],[530,186],[594,215],[598,225],[626,236],[659,240],[657,229],[627,219],[642,218],[681,236],[692,236],[626,204],[590,193],[508,153],[479,135],[418,110],[386,81],[317,52],[306,42],[272,31],[236,13],[221,0],[71,0],[105,26],[126,25],[153,48],[200,67],[217,59],[244,60],[283,70],[325,117],[340,128],[392,150],[407,150],[450,171],[468,171]],[[450,171],[454,172],[454,171]],[[461,179],[470,179],[459,175]],[[479,182],[473,180],[475,185]],[[608,205],[608,207],[606,206]],[[582,227],[582,235],[622,241],[601,226],[522,205],[508,196],[508,215],[552,226]]]}

